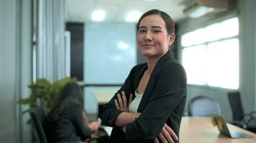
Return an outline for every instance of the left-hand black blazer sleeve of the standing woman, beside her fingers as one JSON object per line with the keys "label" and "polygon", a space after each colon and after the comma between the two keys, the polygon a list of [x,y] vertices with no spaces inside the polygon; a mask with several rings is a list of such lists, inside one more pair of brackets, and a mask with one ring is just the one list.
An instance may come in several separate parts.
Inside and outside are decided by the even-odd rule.
{"label": "left-hand black blazer sleeve of the standing woman, beside her fingers", "polygon": [[104,105],[102,114],[101,114],[101,123],[106,125],[106,126],[110,126],[110,127],[116,127],[114,125],[114,121],[116,120],[116,118],[119,116],[119,114],[121,114],[123,111],[116,109],[116,106],[114,104],[114,99],[116,99],[117,94],[121,94],[122,91],[125,92],[126,96],[127,96],[127,100],[128,95],[131,94],[132,92],[132,75],[134,73],[134,70],[136,69],[136,66],[134,66],[132,68],[132,70],[130,71],[127,79],[125,80],[124,84],[122,85],[122,87],[116,92],[116,94],[114,94],[114,97],[112,97],[112,99],[109,101],[109,103],[107,103],[106,105]]}

